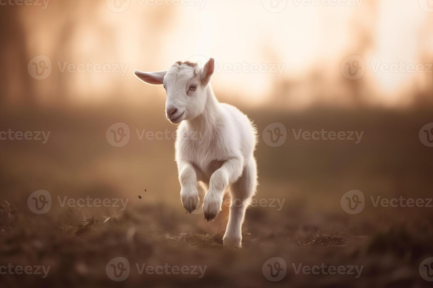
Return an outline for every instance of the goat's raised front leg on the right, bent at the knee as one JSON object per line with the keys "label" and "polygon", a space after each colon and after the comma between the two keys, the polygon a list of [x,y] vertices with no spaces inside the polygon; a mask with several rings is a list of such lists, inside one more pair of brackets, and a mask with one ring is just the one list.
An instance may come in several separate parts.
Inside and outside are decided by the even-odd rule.
{"label": "goat's raised front leg on the right, bent at the knee", "polygon": [[209,190],[203,199],[203,213],[207,221],[221,211],[224,190],[242,175],[242,158],[230,158],[210,176]]}

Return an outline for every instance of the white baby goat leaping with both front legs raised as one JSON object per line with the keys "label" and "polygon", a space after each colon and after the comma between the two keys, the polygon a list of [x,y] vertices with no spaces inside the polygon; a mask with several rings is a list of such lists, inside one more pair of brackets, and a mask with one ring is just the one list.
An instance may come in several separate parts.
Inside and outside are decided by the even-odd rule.
{"label": "white baby goat leaping with both front legs raised", "polygon": [[[164,85],[166,117],[174,124],[182,122],[175,150],[183,206],[190,213],[197,208],[200,181],[207,190],[204,217],[212,220],[221,211],[223,193],[229,189],[231,205],[223,243],[241,247],[242,223],[257,186],[253,155],[257,133],[245,114],[216,100],[209,83],[214,67],[210,58],[203,69],[197,63],[178,61],[168,71],[134,73],[146,83]],[[204,139],[180,137],[198,133]]]}

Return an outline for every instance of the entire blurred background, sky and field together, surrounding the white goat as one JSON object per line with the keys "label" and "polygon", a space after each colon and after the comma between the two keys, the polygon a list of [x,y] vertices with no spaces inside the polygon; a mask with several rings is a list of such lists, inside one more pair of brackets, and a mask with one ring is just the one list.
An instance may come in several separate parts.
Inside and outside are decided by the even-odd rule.
{"label": "entire blurred background, sky and field together, surrounding the white goat", "polygon": [[[53,266],[47,279],[2,275],[8,287],[198,285],[194,277],[175,275],[113,282],[104,269],[116,256],[131,263],[207,263],[200,283],[209,287],[427,287],[418,266],[433,256],[432,208],[374,207],[370,196],[432,195],[428,140],[433,132],[422,135],[423,127],[433,128],[433,3],[330,3],[1,3],[0,132],[50,133],[45,143],[0,140],[2,262]],[[171,134],[176,126],[165,119],[165,91],[133,75],[134,70],[167,70],[179,60],[204,63],[209,57],[216,60],[211,81],[216,97],[246,113],[258,128],[255,198],[284,199],[281,209],[278,203],[251,207],[244,247],[228,254],[185,250],[160,240],[191,232],[193,238],[207,235],[220,243],[223,228],[205,222],[202,214],[184,214]],[[118,123],[129,129],[129,140],[115,147],[107,135]],[[277,147],[265,137],[274,123],[285,128],[286,140]],[[297,140],[300,129],[363,134],[358,143]],[[146,132],[169,136],[143,137]],[[350,215],[340,199],[355,189],[364,193],[365,208]],[[36,190],[47,190],[53,199],[44,215],[35,215],[27,204]],[[74,225],[71,215],[82,215],[61,207],[58,196],[129,202],[122,211],[83,207],[84,218],[96,215],[103,222],[115,213],[120,220],[108,221],[104,232],[86,239],[66,239],[57,229]],[[9,207],[4,200],[16,207],[17,222],[4,212]],[[292,245],[316,237],[314,226],[360,244]],[[263,263],[274,256],[288,266],[280,282],[269,282],[262,273]],[[366,268],[356,282],[348,275],[289,272],[291,263],[301,262]]]}

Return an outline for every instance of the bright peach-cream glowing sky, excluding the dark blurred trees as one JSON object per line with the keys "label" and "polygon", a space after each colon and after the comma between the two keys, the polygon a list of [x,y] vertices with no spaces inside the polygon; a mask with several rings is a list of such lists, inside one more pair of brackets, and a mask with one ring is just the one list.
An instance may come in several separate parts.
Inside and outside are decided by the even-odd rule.
{"label": "bright peach-cream glowing sky, excluding the dark blurred trees", "polygon": [[[110,1],[114,0],[73,1],[64,6],[53,1],[45,10],[27,9],[29,13],[23,14],[29,54],[44,54],[52,60],[53,75],[45,84],[38,83],[40,89],[63,79],[77,95],[74,99],[89,100],[87,95],[92,94],[93,101],[115,86],[136,91],[141,83],[132,77],[133,70],[165,70],[178,60],[213,57],[218,70],[213,85],[260,104],[278,80],[307,83],[312,71],[320,71],[330,86],[338,86],[346,80],[340,64],[360,51],[362,31],[371,33],[370,45],[361,51],[366,63],[363,85],[377,92],[374,101],[392,105],[407,97],[405,91],[414,83],[433,85],[432,73],[373,71],[383,63],[416,65],[422,63],[422,56],[431,61],[433,13],[421,7],[423,1],[433,0],[342,0],[348,3],[345,6],[289,0],[279,13],[265,9],[266,1],[277,0],[264,0],[265,4],[261,0],[191,0],[195,5],[189,6],[149,6],[144,0],[125,0],[129,8],[122,13],[112,12]],[[128,66],[125,76],[91,72],[56,76],[59,61]],[[258,66],[263,72],[251,71]],[[128,101],[136,97],[126,96]],[[311,96],[299,97],[305,102]]]}

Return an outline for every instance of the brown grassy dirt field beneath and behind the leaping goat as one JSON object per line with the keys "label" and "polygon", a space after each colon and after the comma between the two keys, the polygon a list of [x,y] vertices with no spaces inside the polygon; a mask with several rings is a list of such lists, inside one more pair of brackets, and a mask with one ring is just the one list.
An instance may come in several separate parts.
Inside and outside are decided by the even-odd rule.
{"label": "brown grassy dirt field beneath and behind the leaping goat", "polygon": [[[0,267],[1,286],[431,287],[420,275],[420,264],[433,257],[433,208],[427,202],[424,207],[375,207],[370,200],[432,197],[433,148],[418,136],[432,122],[431,111],[244,112],[260,135],[268,124],[283,123],[287,140],[271,147],[260,136],[255,152],[258,204],[247,211],[242,249],[227,249],[217,222],[207,223],[200,213],[185,214],[174,139],[139,139],[136,134],[136,129],[174,131],[161,111],[2,109],[1,131],[51,135],[45,144],[0,141],[0,266],[50,267],[45,278],[43,272],[2,273]],[[116,122],[131,129],[124,147],[111,146],[105,137]],[[355,144],[296,140],[292,129],[364,133]],[[28,204],[37,190],[52,196],[52,208],[41,215]],[[353,215],[340,202],[351,190],[365,195],[365,208]],[[128,203],[123,210],[87,205],[78,211],[61,206],[65,196]],[[323,245],[299,247],[322,237]],[[130,265],[123,281],[110,279],[110,263],[117,257]],[[280,266],[272,262],[274,257],[284,260],[278,258]],[[144,264],[206,270],[202,275],[171,269],[158,274],[142,271]],[[276,280],[271,270],[281,265],[286,267],[284,278],[268,280]],[[332,274],[334,266],[346,272]]]}

